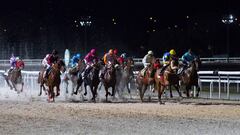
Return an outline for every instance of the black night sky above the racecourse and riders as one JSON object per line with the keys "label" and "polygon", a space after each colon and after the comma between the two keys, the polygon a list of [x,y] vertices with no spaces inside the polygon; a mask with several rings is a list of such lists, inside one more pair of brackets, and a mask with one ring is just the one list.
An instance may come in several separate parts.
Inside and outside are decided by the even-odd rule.
{"label": "black night sky above the racecourse and riders", "polygon": [[[110,48],[135,57],[149,49],[161,57],[172,48],[179,55],[187,48],[201,57],[226,54],[227,25],[221,19],[226,14],[240,19],[238,6],[229,0],[9,0],[0,8],[0,46],[6,48],[0,59],[12,52],[41,58],[54,48],[85,53],[85,31],[75,23],[83,16],[92,22],[86,50],[97,48],[100,55]],[[230,56],[239,56],[239,34],[237,20],[230,25]]]}

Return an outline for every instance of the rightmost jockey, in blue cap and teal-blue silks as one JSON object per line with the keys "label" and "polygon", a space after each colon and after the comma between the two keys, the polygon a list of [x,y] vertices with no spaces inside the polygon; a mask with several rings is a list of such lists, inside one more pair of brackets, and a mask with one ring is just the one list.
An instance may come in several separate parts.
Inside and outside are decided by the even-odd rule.
{"label": "rightmost jockey, in blue cap and teal-blue silks", "polygon": [[194,59],[196,59],[197,56],[192,52],[191,49],[188,49],[188,52],[186,52],[183,56],[182,56],[182,63],[184,65],[184,69],[187,68],[189,66],[189,64],[194,61]]}

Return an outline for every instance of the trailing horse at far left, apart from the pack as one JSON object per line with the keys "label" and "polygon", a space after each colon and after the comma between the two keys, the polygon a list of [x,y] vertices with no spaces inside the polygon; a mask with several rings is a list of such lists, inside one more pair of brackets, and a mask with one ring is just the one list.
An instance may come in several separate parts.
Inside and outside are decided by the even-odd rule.
{"label": "trailing horse at far left, apart from the pack", "polygon": [[[6,80],[8,86],[10,89],[13,89],[15,91],[18,91],[16,88],[17,84],[21,84],[21,89],[20,91],[23,91],[23,79],[22,79],[22,74],[21,74],[21,69],[13,69],[8,75],[2,74],[4,79]],[[18,91],[19,92],[19,91]]]}

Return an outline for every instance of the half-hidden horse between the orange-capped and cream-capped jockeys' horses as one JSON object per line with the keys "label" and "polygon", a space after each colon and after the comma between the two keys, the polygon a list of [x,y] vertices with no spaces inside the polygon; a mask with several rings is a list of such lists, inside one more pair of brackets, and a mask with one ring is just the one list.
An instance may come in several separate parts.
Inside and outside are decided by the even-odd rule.
{"label": "half-hidden horse between the orange-capped and cream-capped jockeys' horses", "polygon": [[133,67],[134,67],[133,59],[127,58],[126,64],[120,65],[120,68],[117,69],[116,92],[118,92],[118,94],[120,94],[120,91],[122,93],[124,88],[127,87],[130,98],[132,98],[132,97],[131,97],[131,91],[130,91],[128,84],[134,78]]}

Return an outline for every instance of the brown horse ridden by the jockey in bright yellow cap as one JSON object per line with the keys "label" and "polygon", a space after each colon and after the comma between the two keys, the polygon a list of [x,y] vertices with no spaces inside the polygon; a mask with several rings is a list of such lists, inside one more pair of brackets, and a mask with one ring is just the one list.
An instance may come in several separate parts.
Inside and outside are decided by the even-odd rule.
{"label": "brown horse ridden by the jockey in bright yellow cap", "polygon": [[163,92],[164,89],[168,86],[171,98],[173,97],[171,86],[174,86],[175,89],[177,90],[179,96],[182,97],[182,94],[179,90],[180,89],[180,86],[179,86],[180,78],[177,75],[177,70],[178,70],[178,60],[171,60],[169,66],[164,71],[163,76],[157,76],[157,78],[159,78],[158,81],[161,84],[161,92]]}

